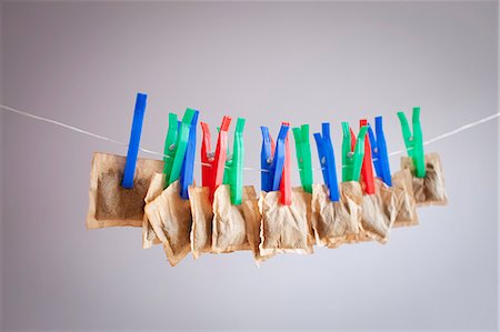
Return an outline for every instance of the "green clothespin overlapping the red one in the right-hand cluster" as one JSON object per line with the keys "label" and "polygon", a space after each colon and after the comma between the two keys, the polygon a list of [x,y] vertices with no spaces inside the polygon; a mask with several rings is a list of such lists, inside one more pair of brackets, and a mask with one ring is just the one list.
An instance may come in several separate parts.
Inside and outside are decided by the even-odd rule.
{"label": "green clothespin overlapping the red one in the right-hand cluster", "polygon": [[364,158],[364,137],[367,135],[368,125],[361,127],[356,140],[356,148],[352,152],[351,132],[349,123],[342,122],[342,181],[359,181],[361,167]]}

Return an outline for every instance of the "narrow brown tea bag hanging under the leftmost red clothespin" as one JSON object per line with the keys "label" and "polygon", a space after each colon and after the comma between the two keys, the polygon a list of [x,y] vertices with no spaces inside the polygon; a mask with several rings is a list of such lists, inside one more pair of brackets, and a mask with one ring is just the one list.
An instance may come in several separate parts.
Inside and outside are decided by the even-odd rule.
{"label": "narrow brown tea bag hanging under the leftmost red clothespin", "polygon": [[209,200],[208,187],[189,187],[191,202],[191,251],[194,259],[212,250],[212,220],[213,210]]}

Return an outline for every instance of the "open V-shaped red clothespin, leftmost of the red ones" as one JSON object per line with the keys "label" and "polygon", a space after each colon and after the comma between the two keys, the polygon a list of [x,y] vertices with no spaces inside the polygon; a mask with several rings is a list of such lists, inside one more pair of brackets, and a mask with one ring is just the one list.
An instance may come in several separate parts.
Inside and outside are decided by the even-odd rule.
{"label": "open V-shaped red clothespin, leftmost of the red ones", "polygon": [[210,151],[210,130],[206,122],[201,122],[203,131],[203,142],[201,144],[202,165],[202,185],[208,187],[210,191],[210,201],[213,200],[213,193],[222,184],[224,178],[226,158],[228,153],[228,129],[231,124],[231,118],[224,117],[220,125],[219,137],[217,139],[216,152]]}

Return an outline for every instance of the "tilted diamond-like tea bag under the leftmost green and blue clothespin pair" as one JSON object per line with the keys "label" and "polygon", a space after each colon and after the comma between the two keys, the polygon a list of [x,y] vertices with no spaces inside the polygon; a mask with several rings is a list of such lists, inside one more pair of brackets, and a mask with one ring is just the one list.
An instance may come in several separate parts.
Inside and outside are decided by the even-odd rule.
{"label": "tilted diamond-like tea bag under the leftmost green and blue clothespin pair", "polygon": [[[158,180],[160,178],[161,180]],[[161,181],[164,175],[154,174],[153,181]],[[159,197],[144,208],[146,215],[163,249],[170,264],[178,264],[191,250],[191,205],[180,194],[179,180],[164,189]]]}

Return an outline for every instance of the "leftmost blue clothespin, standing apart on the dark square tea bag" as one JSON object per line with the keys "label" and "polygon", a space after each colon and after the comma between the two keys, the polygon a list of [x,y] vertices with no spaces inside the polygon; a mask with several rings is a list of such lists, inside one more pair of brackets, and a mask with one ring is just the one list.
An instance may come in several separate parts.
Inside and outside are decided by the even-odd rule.
{"label": "leftmost blue clothespin, standing apart on the dark square tea bag", "polygon": [[141,140],[142,122],[144,120],[146,100],[148,95],[138,93],[136,98],[136,109],[133,111],[132,130],[130,132],[129,149],[127,152],[127,161],[123,170],[123,180],[121,187],[127,189],[133,188],[133,177],[136,173],[137,155],[139,153],[139,143]]}

